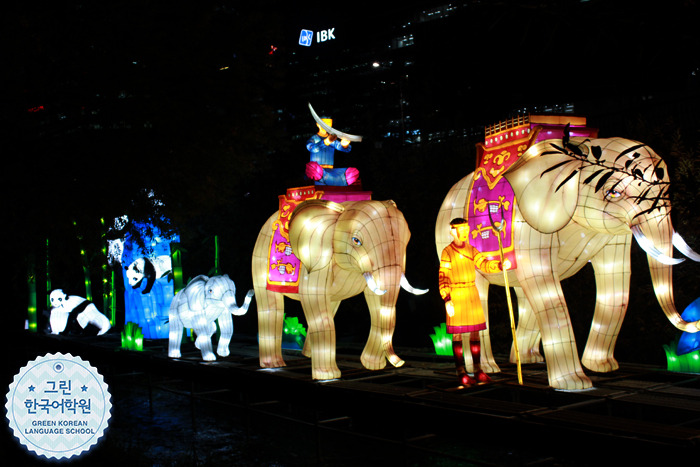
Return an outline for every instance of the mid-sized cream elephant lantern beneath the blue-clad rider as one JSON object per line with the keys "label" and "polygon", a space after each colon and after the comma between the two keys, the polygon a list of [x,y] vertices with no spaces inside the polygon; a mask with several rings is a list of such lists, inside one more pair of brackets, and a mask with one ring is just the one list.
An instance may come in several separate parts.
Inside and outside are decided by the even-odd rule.
{"label": "mid-sized cream elephant lantern beneath the blue-clad rider", "polygon": [[371,330],[361,361],[370,370],[386,360],[403,365],[394,352],[399,287],[414,294],[404,277],[408,225],[393,201],[300,203],[289,221],[289,241],[301,260],[296,292],[266,287],[272,229],[278,213],[263,226],[253,252],[253,285],[258,304],[260,366],[284,366],[282,324],[284,297],[301,301],[308,323],[303,353],[311,357],[312,377],[340,377],[335,360],[334,316],[340,302],[362,292],[369,307]]}

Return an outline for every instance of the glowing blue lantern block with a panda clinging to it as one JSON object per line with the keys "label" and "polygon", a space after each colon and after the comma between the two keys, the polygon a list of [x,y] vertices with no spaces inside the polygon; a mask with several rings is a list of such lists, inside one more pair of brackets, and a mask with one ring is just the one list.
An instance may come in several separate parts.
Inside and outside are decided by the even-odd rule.
{"label": "glowing blue lantern block with a panda clinging to it", "polygon": [[170,244],[180,238],[165,236],[152,224],[135,226],[146,247],[127,234],[121,248],[116,248],[121,250],[125,322],[140,326],[145,339],[167,339],[168,310],[175,295]]}

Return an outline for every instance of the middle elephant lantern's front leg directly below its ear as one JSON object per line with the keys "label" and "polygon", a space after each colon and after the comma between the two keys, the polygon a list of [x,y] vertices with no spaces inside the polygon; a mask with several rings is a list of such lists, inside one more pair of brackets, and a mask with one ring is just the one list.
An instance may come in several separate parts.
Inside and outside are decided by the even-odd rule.
{"label": "middle elephant lantern's front leg directly below its ear", "polygon": [[325,295],[309,296],[300,292],[301,305],[309,325],[306,339],[311,348],[311,377],[321,380],[340,378],[340,369],[335,360],[335,323],[331,301]]}

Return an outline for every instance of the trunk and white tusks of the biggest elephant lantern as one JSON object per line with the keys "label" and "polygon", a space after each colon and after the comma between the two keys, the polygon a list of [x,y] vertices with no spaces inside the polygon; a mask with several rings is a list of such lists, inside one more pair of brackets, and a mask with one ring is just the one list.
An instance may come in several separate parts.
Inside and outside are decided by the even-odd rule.
{"label": "trunk and white tusks of the biggest elephant lantern", "polygon": [[[700,321],[688,322],[681,318],[673,299],[672,265],[683,261],[683,259],[672,257],[673,244],[680,245],[682,243],[685,245],[685,242],[682,239],[673,241],[674,237],[680,238],[680,236],[674,234],[670,217],[666,215],[660,220],[654,219],[641,226],[635,225],[632,227],[632,232],[639,246],[647,252],[654,293],[668,320],[681,331],[697,332],[700,330]],[[653,242],[649,239],[653,239]],[[687,255],[692,258],[691,254],[695,253],[687,245],[685,247],[688,251]],[[682,249],[681,251],[686,253]]]}

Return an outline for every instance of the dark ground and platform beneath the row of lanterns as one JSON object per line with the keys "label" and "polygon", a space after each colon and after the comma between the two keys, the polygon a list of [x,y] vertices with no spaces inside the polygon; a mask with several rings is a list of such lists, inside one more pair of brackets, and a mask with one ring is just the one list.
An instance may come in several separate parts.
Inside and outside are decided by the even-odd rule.
{"label": "dark ground and platform beneath the row of lanterns", "polygon": [[[71,353],[105,377],[112,418],[97,447],[69,465],[625,465],[700,454],[700,375],[621,363],[587,372],[594,388],[556,391],[544,364],[497,358],[489,385],[455,384],[452,359],[397,349],[401,368],[368,371],[361,347],[339,343],[339,380],[311,379],[310,362],[285,350],[287,367],[261,369],[254,337],[234,336],[231,355],[202,362],[193,345],[167,357],[117,334],[12,336],[7,385],[29,360]],[[12,439],[13,465],[46,465]]]}

